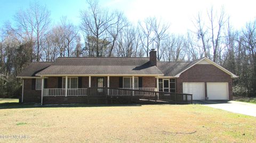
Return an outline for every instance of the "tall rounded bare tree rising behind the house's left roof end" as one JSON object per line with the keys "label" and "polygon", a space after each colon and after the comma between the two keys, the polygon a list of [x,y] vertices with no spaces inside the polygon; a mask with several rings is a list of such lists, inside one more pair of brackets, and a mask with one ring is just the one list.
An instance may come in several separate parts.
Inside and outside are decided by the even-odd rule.
{"label": "tall rounded bare tree rising behind the house's left roof end", "polygon": [[14,18],[19,36],[26,41],[35,42],[36,61],[39,61],[40,51],[45,41],[44,36],[50,24],[50,12],[46,6],[31,3],[26,11],[20,10]]}

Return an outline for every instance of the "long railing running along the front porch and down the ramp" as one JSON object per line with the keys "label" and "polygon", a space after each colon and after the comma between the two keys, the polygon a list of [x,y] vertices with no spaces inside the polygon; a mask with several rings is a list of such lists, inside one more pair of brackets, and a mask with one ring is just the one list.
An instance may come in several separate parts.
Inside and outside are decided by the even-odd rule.
{"label": "long railing running along the front porch and down the ramp", "polygon": [[[142,90],[143,89],[143,90]],[[151,91],[153,90],[153,91]],[[131,97],[137,99],[166,100],[174,103],[192,103],[191,94],[155,91],[155,88],[68,88],[67,96],[87,96],[95,98]],[[43,89],[43,96],[66,96],[65,88]]]}

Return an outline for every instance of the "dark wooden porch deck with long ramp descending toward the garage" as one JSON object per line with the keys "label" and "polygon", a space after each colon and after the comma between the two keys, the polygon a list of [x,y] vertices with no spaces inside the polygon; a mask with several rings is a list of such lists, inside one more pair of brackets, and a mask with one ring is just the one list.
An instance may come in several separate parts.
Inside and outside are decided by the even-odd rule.
{"label": "dark wooden porch deck with long ramp descending toward the garage", "polygon": [[[60,89],[58,89],[60,90]],[[43,104],[58,103],[87,103],[87,104],[127,104],[127,103],[175,103],[190,104],[193,102],[191,94],[159,92],[148,90],[122,88],[85,88],[71,89],[71,96],[65,96],[65,90],[58,91],[54,96],[45,90]],[[51,91],[52,92],[52,91]],[[59,94],[61,92],[61,94]],[[51,96],[49,96],[51,95]]]}

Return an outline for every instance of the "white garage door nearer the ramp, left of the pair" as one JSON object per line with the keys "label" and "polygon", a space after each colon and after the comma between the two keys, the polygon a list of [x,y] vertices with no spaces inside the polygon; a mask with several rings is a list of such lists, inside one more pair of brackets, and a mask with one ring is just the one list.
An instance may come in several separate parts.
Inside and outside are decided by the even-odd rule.
{"label": "white garage door nearer the ramp, left of the pair", "polygon": [[193,100],[204,100],[204,82],[183,82],[183,93],[193,94]]}

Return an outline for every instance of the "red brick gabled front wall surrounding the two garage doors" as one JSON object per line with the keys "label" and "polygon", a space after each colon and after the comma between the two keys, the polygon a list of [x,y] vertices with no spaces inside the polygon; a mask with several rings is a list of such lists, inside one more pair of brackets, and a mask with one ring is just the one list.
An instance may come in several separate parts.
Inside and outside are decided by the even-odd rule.
{"label": "red brick gabled front wall surrounding the two garage doors", "polygon": [[[233,99],[231,76],[223,72],[212,64],[197,64],[181,73],[177,78],[177,92],[183,92],[183,82],[228,82],[229,100]],[[207,87],[205,86],[205,97],[207,96]]]}

